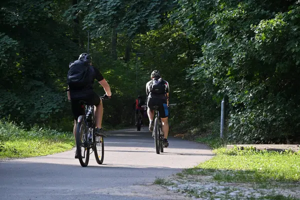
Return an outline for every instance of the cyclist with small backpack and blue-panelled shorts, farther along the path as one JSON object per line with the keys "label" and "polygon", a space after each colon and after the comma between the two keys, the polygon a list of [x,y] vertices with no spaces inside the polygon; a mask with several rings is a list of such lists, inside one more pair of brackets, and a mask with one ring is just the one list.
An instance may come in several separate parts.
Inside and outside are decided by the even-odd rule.
{"label": "cyclist with small backpack and blue-panelled shorts, farther along the path", "polygon": [[146,84],[147,93],[147,113],[149,117],[149,130],[153,131],[153,117],[154,108],[153,106],[158,106],[158,113],[162,122],[162,131],[164,134],[163,146],[168,146],[167,135],[168,135],[168,94],[169,94],[169,84],[167,81],[163,80],[160,76],[158,70],[154,70],[151,73],[151,80]]}

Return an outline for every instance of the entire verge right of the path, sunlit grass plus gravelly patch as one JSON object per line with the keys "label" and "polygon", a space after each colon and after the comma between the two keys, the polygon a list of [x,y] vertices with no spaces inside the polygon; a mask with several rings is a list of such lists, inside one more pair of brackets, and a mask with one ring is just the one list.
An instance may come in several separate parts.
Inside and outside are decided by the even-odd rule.
{"label": "entire verge right of the path, sunlit grass plus gravelly patch", "polygon": [[226,149],[228,141],[213,134],[194,140],[215,156],[170,177],[177,186],[168,189],[202,199],[300,199],[300,152]]}

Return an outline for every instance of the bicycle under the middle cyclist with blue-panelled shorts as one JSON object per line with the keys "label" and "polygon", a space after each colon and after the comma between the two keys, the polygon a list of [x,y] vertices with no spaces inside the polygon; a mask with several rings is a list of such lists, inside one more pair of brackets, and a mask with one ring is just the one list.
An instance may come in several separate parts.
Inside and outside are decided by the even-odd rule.
{"label": "bicycle under the middle cyclist with blue-panelled shorts", "polygon": [[[173,104],[169,104],[167,107],[176,105],[176,103]],[[162,127],[162,122],[161,119],[159,117],[159,113],[158,113],[158,105],[154,105],[154,128],[153,128],[153,136],[154,136],[154,143],[155,143],[155,149],[156,149],[156,153],[159,154],[160,152],[163,153],[163,131],[161,129]]]}

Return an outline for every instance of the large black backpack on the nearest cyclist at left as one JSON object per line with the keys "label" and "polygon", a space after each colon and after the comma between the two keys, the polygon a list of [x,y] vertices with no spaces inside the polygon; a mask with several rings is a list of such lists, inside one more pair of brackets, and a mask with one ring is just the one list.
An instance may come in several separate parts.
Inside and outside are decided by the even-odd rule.
{"label": "large black backpack on the nearest cyclist at left", "polygon": [[87,62],[75,60],[69,63],[66,83],[70,89],[83,89],[90,84],[89,65]]}

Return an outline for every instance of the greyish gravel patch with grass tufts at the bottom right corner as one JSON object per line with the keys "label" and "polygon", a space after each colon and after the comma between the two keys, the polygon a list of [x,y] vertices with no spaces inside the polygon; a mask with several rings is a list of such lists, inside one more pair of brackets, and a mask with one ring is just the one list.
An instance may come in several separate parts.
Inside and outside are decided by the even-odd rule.
{"label": "greyish gravel patch with grass tufts at the bottom right corner", "polygon": [[218,182],[207,175],[172,175],[164,180],[164,187],[192,199],[264,199],[268,195],[300,199],[299,182],[236,183]]}

